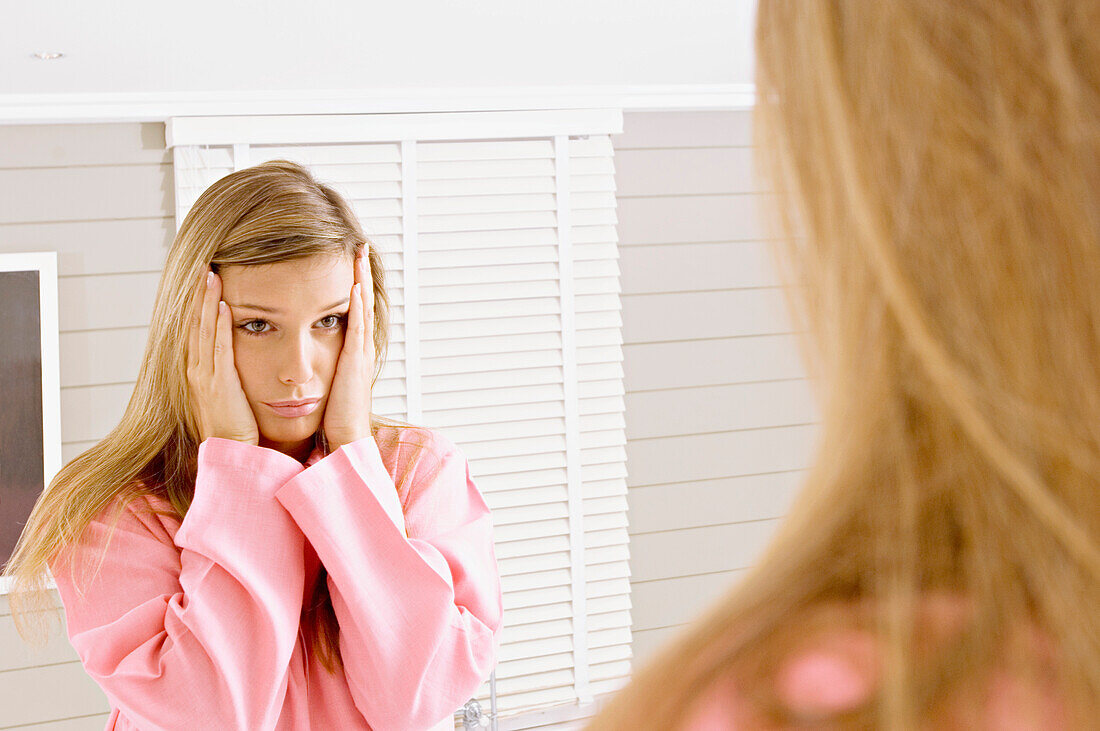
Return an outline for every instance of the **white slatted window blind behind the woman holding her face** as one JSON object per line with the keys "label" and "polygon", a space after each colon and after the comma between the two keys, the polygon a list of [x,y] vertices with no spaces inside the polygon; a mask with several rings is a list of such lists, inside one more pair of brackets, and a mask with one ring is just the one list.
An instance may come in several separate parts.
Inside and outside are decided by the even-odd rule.
{"label": "white slatted window blind behind the woman holding her face", "polygon": [[374,408],[450,436],[493,510],[507,728],[630,673],[622,124],[566,110],[167,125],[177,228],[218,178],[287,158],[343,193],[380,250],[393,311]]}

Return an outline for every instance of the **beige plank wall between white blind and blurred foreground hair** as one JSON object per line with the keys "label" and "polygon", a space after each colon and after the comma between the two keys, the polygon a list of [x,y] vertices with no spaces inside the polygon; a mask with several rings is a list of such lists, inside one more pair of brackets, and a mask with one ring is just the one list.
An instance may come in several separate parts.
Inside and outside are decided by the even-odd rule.
{"label": "beige plank wall between white blind and blurred foreground hair", "polygon": [[752,563],[818,417],[771,261],[751,113],[626,113],[613,140],[638,667]]}

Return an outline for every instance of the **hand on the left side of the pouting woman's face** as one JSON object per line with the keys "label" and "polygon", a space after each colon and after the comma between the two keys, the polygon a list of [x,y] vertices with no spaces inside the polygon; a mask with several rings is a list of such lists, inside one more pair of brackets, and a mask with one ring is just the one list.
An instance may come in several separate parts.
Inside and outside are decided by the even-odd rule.
{"label": "hand on the left side of the pouting woman's face", "polygon": [[208,267],[195,288],[187,340],[187,381],[199,441],[210,436],[260,443],[256,417],[233,364],[232,314],[221,302],[221,277]]}

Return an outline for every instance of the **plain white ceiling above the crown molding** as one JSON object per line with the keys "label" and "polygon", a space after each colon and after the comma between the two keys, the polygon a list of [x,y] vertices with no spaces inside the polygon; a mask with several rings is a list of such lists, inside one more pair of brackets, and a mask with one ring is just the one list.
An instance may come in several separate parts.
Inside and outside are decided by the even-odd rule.
{"label": "plain white ceiling above the crown molding", "polygon": [[[754,10],[755,0],[6,2],[0,112],[84,95],[748,84]],[[32,58],[40,52],[65,56]]]}

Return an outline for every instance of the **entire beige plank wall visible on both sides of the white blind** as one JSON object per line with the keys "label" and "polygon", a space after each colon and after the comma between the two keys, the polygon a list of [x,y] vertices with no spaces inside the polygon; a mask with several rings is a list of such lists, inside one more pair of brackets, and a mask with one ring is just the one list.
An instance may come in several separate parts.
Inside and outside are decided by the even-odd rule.
{"label": "entire beige plank wall visible on both sides of the white blind", "polygon": [[[636,663],[752,562],[813,438],[749,140],[747,112],[627,112],[613,137]],[[0,252],[58,252],[65,461],[129,399],[173,212],[162,124],[0,126]],[[107,709],[67,638],[32,652],[0,597],[0,729]]]}

